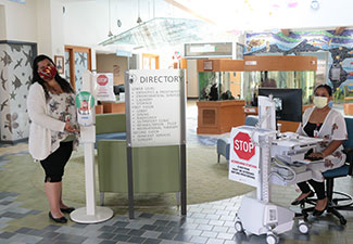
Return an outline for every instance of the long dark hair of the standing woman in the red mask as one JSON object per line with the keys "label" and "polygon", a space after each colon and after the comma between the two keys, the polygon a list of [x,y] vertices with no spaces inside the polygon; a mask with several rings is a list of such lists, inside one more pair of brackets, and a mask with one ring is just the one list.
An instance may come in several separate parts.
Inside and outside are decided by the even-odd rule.
{"label": "long dark hair of the standing woman in the red mask", "polygon": [[[56,65],[54,64],[54,62],[47,55],[38,55],[36,56],[36,59],[33,61],[33,78],[31,78],[31,84],[38,82],[45,90],[46,93],[46,99],[49,98],[49,93],[48,93],[48,89],[45,86],[45,80],[42,78],[40,78],[39,74],[38,74],[38,63],[40,61],[43,60],[49,60],[50,63],[52,63],[55,67]],[[75,93],[74,89],[71,87],[70,82],[62,78],[58,73],[55,74],[54,79],[56,80],[56,82],[59,84],[59,86],[61,87],[61,89],[66,92],[66,93]]]}

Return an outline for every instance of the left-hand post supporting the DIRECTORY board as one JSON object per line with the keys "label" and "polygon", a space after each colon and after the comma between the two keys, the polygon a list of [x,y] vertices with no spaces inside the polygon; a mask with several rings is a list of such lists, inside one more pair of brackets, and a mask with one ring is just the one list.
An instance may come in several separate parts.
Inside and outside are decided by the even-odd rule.
{"label": "left-hand post supporting the DIRECTORY board", "polygon": [[134,171],[133,171],[133,147],[130,127],[130,82],[129,72],[125,73],[125,113],[126,113],[126,156],[127,156],[127,191],[128,191],[128,215],[130,219],[135,218],[134,209]]}

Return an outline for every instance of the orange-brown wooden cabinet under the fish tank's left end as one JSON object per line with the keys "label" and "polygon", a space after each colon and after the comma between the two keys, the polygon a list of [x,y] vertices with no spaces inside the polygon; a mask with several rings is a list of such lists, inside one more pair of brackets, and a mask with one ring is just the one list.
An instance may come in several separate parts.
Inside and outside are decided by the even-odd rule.
{"label": "orange-brown wooden cabinet under the fish tank's left end", "polygon": [[245,121],[244,100],[199,101],[197,105],[198,133],[226,133]]}

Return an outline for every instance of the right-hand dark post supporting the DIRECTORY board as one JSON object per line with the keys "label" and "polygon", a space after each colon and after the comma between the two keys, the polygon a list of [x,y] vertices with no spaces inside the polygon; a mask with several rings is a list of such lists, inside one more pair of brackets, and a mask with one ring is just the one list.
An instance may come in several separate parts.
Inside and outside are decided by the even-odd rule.
{"label": "right-hand dark post supporting the DIRECTORY board", "polygon": [[180,69],[180,159],[181,215],[187,215],[187,150],[186,150],[186,75]]}

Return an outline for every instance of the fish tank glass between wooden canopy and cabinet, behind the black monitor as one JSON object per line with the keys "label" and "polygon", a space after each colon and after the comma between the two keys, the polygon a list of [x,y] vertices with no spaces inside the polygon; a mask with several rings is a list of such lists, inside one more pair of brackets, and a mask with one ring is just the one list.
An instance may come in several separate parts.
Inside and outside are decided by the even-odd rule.
{"label": "fish tank glass between wooden canopy and cabinet, behind the black monitor", "polygon": [[243,99],[247,105],[257,106],[260,87],[301,88],[306,105],[312,103],[315,85],[315,72],[200,72],[199,100]]}

